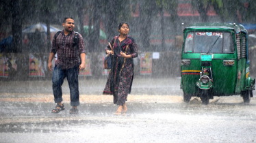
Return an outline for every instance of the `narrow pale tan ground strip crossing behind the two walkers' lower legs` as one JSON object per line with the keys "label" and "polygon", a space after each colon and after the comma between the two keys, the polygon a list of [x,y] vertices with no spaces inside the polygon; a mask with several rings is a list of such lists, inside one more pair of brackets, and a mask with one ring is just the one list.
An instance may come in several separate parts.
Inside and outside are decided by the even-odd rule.
{"label": "narrow pale tan ground strip crossing behind the two walkers' lower legs", "polygon": [[[112,95],[80,95],[81,104],[102,104],[112,103]],[[53,95],[37,94],[27,95],[25,93],[3,93],[0,95],[0,102],[24,102],[24,103],[54,103]],[[63,95],[64,102],[70,102],[70,96]],[[183,102],[183,97],[178,95],[128,95],[127,101],[138,103],[177,103]]]}

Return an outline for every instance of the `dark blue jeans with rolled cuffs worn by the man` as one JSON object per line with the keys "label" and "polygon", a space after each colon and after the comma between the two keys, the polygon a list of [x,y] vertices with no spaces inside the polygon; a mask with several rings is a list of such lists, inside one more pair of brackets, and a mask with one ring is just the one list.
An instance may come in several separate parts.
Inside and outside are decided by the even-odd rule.
{"label": "dark blue jeans with rolled cuffs worn by the man", "polygon": [[78,66],[72,67],[70,69],[61,69],[55,65],[52,78],[55,103],[63,101],[62,84],[64,82],[64,78],[67,78],[71,93],[71,106],[79,106],[78,74]]}

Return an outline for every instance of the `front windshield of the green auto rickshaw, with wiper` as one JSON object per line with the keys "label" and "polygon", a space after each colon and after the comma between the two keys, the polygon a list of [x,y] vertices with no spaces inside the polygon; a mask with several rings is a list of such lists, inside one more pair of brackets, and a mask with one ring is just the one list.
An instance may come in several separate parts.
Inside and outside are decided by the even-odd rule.
{"label": "front windshield of the green auto rickshaw, with wiper", "polygon": [[234,41],[228,32],[190,32],[185,37],[184,52],[234,53]]}

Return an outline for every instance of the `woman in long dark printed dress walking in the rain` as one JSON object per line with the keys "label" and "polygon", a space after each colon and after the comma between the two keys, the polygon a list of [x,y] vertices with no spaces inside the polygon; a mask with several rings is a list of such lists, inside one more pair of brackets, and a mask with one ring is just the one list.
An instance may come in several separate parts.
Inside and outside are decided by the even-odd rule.
{"label": "woman in long dark printed dress walking in the rain", "polygon": [[[127,112],[128,93],[131,93],[133,82],[133,58],[138,57],[138,47],[135,40],[128,35],[129,25],[120,22],[118,26],[119,36],[115,36],[105,48],[107,54],[112,54],[112,68],[107,77],[107,84],[103,94],[113,95],[114,104],[118,105],[115,115],[123,115]],[[110,47],[112,46],[112,48]]]}

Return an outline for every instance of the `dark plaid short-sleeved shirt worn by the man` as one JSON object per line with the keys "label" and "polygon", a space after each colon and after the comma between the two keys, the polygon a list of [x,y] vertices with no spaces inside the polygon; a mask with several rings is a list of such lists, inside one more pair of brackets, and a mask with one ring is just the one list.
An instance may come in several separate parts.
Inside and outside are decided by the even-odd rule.
{"label": "dark plaid short-sleeved shirt worn by the man", "polygon": [[81,63],[80,54],[86,53],[84,48],[84,39],[79,34],[79,50],[77,46],[73,44],[75,32],[64,35],[64,30],[57,35],[56,40],[53,38],[51,52],[54,54],[57,52],[56,65],[62,69],[69,69]]}

